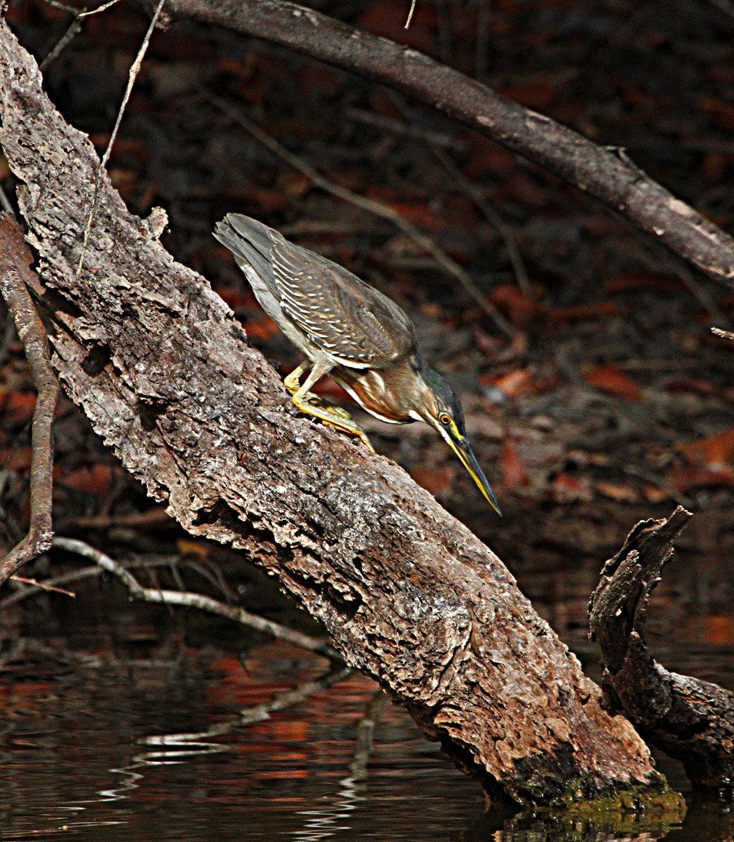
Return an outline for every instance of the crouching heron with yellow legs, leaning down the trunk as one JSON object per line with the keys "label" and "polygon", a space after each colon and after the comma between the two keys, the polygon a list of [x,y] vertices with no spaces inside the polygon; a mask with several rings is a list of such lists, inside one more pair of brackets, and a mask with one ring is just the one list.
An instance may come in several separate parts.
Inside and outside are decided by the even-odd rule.
{"label": "crouching heron with yellow legs, leaning down the trunk", "polygon": [[348,413],[310,392],[328,374],[382,421],[430,424],[501,514],[466,439],[459,398],[423,360],[415,328],[394,301],[249,216],[227,214],[214,236],[234,254],[263,310],[306,354],[306,362],[285,378],[285,387],[302,413],[359,435],[372,450],[364,430]]}

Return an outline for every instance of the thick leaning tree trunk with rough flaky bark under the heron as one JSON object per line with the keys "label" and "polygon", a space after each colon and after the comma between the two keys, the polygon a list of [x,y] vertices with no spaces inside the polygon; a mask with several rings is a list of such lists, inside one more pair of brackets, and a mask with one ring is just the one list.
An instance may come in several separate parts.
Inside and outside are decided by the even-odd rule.
{"label": "thick leaning tree trunk with rough flaky bark under the heron", "polygon": [[0,118],[54,365],[149,493],[278,576],[488,791],[678,804],[497,557],[394,463],[298,417],[224,302],[106,176],[77,272],[98,156],[4,21]]}

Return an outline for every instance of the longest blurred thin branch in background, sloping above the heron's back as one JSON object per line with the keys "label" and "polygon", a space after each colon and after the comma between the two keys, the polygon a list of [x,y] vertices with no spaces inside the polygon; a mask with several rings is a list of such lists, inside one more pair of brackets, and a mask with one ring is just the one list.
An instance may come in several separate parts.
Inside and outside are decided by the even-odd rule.
{"label": "longest blurred thin branch in background, sloping above the heron's back", "polygon": [[383,205],[381,202],[375,201],[374,199],[367,199],[365,196],[360,196],[353,193],[351,190],[330,181],[321,173],[317,172],[316,169],[311,167],[311,164],[306,163],[300,157],[294,155],[293,152],[289,152],[284,146],[276,141],[274,137],[270,136],[266,131],[263,131],[260,126],[253,122],[253,120],[250,120],[249,117],[242,114],[240,109],[235,108],[226,102],[226,100],[221,99],[221,97],[217,97],[211,93],[205,93],[205,98],[218,109],[221,109],[221,111],[230,117],[231,120],[234,120],[237,125],[241,125],[245,131],[248,131],[257,141],[262,143],[263,147],[267,147],[270,152],[273,152],[274,155],[282,158],[285,163],[288,163],[291,167],[306,175],[306,177],[311,179],[313,184],[316,184],[317,187],[325,190],[327,193],[337,196],[343,201],[349,202],[351,205],[356,205],[357,207],[362,208],[362,210],[373,213],[375,216],[381,216],[382,219],[390,220],[397,228],[406,234],[407,237],[410,237],[413,242],[417,243],[420,248],[423,248],[423,250],[431,254],[436,263],[439,264],[439,266],[444,269],[447,274],[451,275],[460,282],[474,301],[476,301],[481,309],[487,313],[487,316],[492,318],[494,323],[497,325],[497,328],[510,338],[514,336],[515,332],[512,325],[505,317],[503,317],[502,313],[497,310],[491,301],[487,301],[487,296],[482,294],[481,290],[471,279],[471,275],[466,272],[465,269],[462,269],[454,259],[450,258],[442,248],[439,248],[439,246],[433,242],[430,237],[427,237],[422,231],[414,226],[412,222],[405,219],[405,217],[401,216],[396,210],[393,210],[388,205]]}

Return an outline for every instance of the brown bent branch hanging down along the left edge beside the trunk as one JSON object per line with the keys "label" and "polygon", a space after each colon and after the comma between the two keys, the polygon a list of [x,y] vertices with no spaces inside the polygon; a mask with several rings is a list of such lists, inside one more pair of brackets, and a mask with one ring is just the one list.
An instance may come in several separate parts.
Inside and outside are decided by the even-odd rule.
{"label": "brown bent branch hanging down along the left edge beside the trunk", "polygon": [[0,584],[51,546],[51,491],[53,488],[53,443],[51,427],[59,402],[59,384],[51,369],[48,338],[35,311],[26,283],[35,283],[28,246],[18,223],[10,214],[0,214],[0,292],[13,315],[24,345],[30,374],[38,390],[31,428],[30,524],[28,535],[0,562]]}

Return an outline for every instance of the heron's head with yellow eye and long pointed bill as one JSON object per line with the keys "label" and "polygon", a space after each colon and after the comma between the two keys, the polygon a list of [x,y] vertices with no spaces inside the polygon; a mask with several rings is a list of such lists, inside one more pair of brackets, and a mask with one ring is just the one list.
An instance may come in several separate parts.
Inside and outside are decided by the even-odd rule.
{"label": "heron's head with yellow eye and long pointed bill", "polygon": [[417,373],[423,387],[418,392],[418,407],[414,410],[416,420],[425,421],[426,424],[430,424],[439,431],[444,439],[449,442],[456,456],[460,458],[461,464],[479,486],[481,493],[487,498],[492,509],[497,514],[502,514],[497,504],[497,498],[492,491],[492,486],[489,484],[487,477],[484,476],[484,472],[471,450],[469,440],[466,438],[464,411],[461,408],[459,398],[456,397],[454,390],[444,381],[444,378],[437,371],[425,365],[423,360],[419,363]]}

